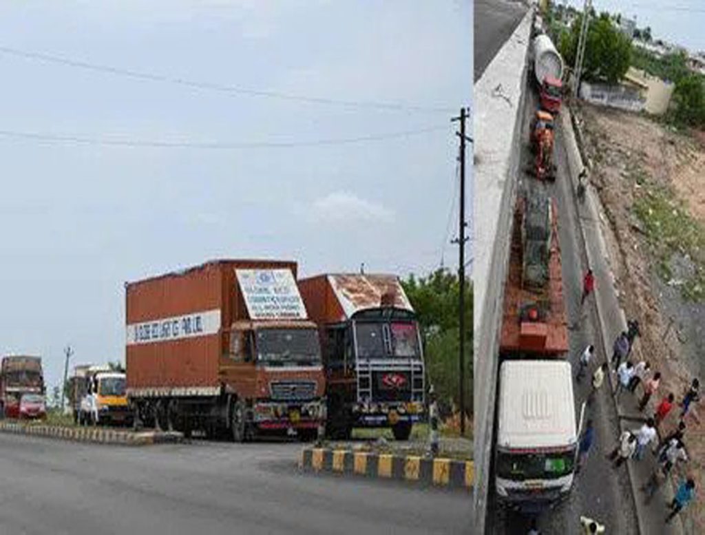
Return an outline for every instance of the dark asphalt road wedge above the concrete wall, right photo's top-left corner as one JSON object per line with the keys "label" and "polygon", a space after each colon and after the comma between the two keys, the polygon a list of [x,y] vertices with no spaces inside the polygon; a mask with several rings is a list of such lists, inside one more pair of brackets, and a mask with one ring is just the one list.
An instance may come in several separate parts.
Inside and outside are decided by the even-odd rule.
{"label": "dark asphalt road wedge above the concrete wall, right photo's top-left corner", "polygon": [[477,82],[527,11],[506,0],[474,2],[474,82]]}

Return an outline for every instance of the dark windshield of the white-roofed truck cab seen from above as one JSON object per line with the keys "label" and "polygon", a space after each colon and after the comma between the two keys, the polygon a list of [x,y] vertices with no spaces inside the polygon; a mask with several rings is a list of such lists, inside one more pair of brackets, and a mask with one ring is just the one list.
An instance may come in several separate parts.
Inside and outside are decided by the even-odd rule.
{"label": "dark windshield of the white-roofed truck cab seen from above", "polygon": [[556,479],[573,471],[575,450],[558,453],[507,453],[497,455],[497,476],[512,481]]}

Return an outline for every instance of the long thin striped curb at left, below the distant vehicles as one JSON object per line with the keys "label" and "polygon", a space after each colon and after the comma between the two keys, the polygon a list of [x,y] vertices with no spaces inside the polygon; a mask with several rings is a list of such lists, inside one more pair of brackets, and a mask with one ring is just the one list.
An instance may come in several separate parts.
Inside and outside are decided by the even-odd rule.
{"label": "long thin striped curb at left, below the distant vehicles", "polygon": [[181,433],[134,432],[99,427],[63,427],[42,424],[0,422],[0,432],[59,438],[67,441],[99,444],[150,445],[176,443],[183,440]]}

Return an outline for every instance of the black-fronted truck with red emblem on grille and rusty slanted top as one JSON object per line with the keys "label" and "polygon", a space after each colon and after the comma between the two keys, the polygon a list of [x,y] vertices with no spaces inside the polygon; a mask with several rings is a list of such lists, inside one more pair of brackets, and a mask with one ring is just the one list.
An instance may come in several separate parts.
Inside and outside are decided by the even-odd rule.
{"label": "black-fronted truck with red emblem on grille and rusty slanted top", "polygon": [[321,334],[327,433],[391,427],[409,438],[424,417],[424,355],[416,314],[389,274],[321,274],[299,281]]}

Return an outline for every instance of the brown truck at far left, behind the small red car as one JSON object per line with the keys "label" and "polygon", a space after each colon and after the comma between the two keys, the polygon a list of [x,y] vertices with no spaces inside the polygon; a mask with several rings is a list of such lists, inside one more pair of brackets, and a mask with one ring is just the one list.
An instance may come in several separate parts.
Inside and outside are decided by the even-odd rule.
{"label": "brown truck at far left, behind the small red car", "polygon": [[42,358],[25,355],[3,357],[0,366],[0,414],[3,417],[18,415],[24,394],[45,394]]}

